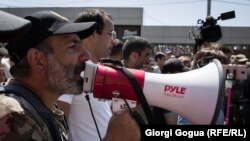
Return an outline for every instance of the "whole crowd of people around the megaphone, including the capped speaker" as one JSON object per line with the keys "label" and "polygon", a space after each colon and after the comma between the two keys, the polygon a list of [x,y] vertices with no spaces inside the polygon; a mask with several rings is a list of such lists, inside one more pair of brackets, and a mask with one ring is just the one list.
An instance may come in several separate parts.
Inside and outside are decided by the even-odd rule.
{"label": "whole crowd of people around the megaphone, including the capped speaker", "polygon": [[[99,9],[84,10],[74,22],[53,11],[24,18],[0,11],[0,22],[0,42],[7,42],[0,48],[3,141],[140,140],[141,122],[131,109],[113,113],[111,101],[83,92],[81,73],[86,62],[98,64],[108,58],[119,60],[126,68],[165,75],[199,69],[213,59],[224,65],[247,65],[249,61],[244,54],[217,43],[202,47],[193,56],[175,56],[169,49],[152,53],[151,43],[143,37],[117,39],[112,15]],[[250,123],[249,67],[247,74],[246,80],[234,80],[229,124]],[[225,125],[226,98],[227,93],[218,125]],[[192,124],[174,111],[150,108],[156,124]],[[142,113],[142,107],[132,111]],[[145,115],[141,117],[145,119]]]}

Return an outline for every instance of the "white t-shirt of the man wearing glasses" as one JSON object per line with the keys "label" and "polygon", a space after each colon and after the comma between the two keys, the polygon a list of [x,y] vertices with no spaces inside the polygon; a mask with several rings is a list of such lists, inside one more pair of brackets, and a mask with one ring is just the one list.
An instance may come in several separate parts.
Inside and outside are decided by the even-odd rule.
{"label": "white t-shirt of the man wearing glasses", "polygon": [[[59,100],[71,103],[69,111],[69,134],[71,141],[100,141],[89,104],[81,95],[62,95]],[[89,94],[91,107],[102,138],[106,135],[109,120],[112,116],[111,102],[99,101]]]}

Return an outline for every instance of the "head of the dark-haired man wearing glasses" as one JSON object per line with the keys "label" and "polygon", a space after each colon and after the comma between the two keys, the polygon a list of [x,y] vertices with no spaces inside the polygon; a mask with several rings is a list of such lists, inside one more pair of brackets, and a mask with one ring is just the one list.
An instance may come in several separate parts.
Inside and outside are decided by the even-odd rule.
{"label": "head of the dark-haired man wearing glasses", "polygon": [[76,23],[87,21],[95,21],[97,27],[92,36],[83,40],[83,45],[90,52],[91,60],[97,63],[101,58],[109,58],[111,49],[116,43],[114,21],[109,13],[99,9],[85,10],[75,20]]}

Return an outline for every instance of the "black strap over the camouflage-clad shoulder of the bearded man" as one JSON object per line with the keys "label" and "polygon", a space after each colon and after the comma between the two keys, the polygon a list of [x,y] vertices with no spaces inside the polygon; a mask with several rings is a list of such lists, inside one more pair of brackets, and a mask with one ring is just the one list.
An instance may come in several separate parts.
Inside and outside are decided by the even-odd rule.
{"label": "black strap over the camouflage-clad shoulder of the bearded man", "polygon": [[5,85],[3,92],[16,94],[28,101],[48,126],[53,140],[62,141],[54,114],[48,109],[48,107],[44,105],[44,103],[36,94],[34,94],[26,87],[17,84]]}

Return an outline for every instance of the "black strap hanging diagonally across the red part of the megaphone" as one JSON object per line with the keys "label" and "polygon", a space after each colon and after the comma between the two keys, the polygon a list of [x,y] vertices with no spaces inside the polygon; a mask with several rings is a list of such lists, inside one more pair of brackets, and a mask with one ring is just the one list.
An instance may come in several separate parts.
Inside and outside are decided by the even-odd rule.
{"label": "black strap hanging diagonally across the red part of the megaphone", "polygon": [[125,74],[125,76],[130,81],[133,89],[135,90],[135,93],[139,97],[139,100],[141,102],[144,113],[148,119],[148,124],[154,124],[153,114],[150,110],[150,107],[149,107],[148,102],[144,96],[144,93],[143,93],[142,89],[140,88],[140,85],[138,84],[137,80],[132,75],[132,73],[130,71],[128,71],[128,69],[126,69],[125,67],[121,67],[121,68],[122,68],[122,72]]}

